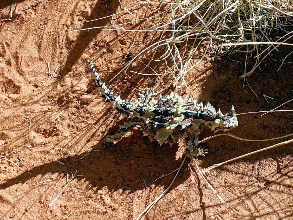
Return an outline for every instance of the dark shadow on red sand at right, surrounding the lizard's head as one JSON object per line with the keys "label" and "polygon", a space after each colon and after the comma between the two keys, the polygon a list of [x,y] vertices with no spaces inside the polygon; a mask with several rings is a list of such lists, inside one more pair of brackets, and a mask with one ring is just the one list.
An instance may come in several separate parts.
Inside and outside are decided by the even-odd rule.
{"label": "dark shadow on red sand at right, surrounding the lizard's head", "polygon": [[[280,53],[275,53],[274,56],[282,55],[280,55]],[[232,59],[238,62],[233,62]],[[268,103],[265,99],[255,96],[253,91],[249,89],[247,83],[244,84],[245,90],[243,90],[243,82],[239,78],[239,76],[243,74],[243,59],[245,59],[245,57],[241,54],[227,54],[213,63],[213,67],[210,68],[210,73],[204,80],[196,79],[195,76],[194,82],[199,84],[200,87],[204,87],[200,99],[203,102],[209,101],[216,110],[220,108],[222,113],[229,112],[231,104],[233,104],[236,109],[236,114],[239,114],[244,112],[271,110],[292,98],[292,95],[289,94],[289,92],[291,92],[291,82],[286,80],[290,78],[291,72],[283,69],[282,72],[277,73],[279,68],[278,63],[274,63],[270,68],[267,67],[267,64],[263,63],[260,65],[263,71],[256,71],[255,74],[248,78],[250,87],[253,88],[256,94],[270,94],[270,96],[274,98],[273,100],[270,100]],[[267,62],[272,62],[272,58]],[[268,74],[270,74],[270,77],[267,77]],[[270,87],[265,86],[268,84]],[[282,91],[281,89],[279,91],[279,88],[282,88]],[[292,104],[288,103],[284,105],[283,108],[292,109]],[[290,113],[266,114],[265,116],[261,116],[261,114],[246,114],[237,116],[237,119],[238,127],[228,131],[228,133],[232,133],[241,138],[268,139],[284,136],[289,134],[291,130],[291,125],[283,122],[290,121]],[[208,133],[207,130],[204,130],[202,133],[202,136],[210,135],[213,134]],[[282,141],[283,140],[284,139],[282,139]],[[281,142],[280,140],[277,141]],[[227,151],[233,153],[236,157],[275,143],[278,142],[246,142],[236,141],[233,138],[227,137],[215,138],[210,140],[208,144],[217,147],[210,148],[210,157],[204,160],[202,165],[208,167],[215,163],[231,159],[232,155],[225,153]],[[278,150],[272,149],[270,150],[270,154],[278,154],[280,149],[283,149],[282,153],[292,154],[292,150],[286,147],[279,147]],[[218,152],[220,152],[220,154]],[[266,152],[260,153],[258,159],[266,156]]]}

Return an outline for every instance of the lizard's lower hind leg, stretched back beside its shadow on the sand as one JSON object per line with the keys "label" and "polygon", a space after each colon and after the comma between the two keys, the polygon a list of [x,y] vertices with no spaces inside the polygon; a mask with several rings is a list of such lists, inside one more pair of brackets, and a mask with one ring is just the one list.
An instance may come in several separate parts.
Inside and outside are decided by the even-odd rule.
{"label": "lizard's lower hind leg, stretched back beside its shadow on the sand", "polygon": [[124,136],[131,128],[136,126],[138,123],[133,121],[127,121],[122,126],[120,126],[119,131],[113,135],[109,135],[104,139],[105,147],[109,147],[112,150],[115,150],[114,141],[118,141],[122,136]]}

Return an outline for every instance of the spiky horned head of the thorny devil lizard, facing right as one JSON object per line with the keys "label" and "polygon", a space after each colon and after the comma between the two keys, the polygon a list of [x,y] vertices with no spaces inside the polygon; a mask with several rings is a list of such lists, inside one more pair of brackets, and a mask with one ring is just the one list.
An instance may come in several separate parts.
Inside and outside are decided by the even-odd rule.
{"label": "spiky horned head of the thorny devil lizard, facing right", "polygon": [[229,131],[232,128],[238,126],[237,117],[235,114],[234,106],[232,105],[231,111],[226,114],[222,114],[220,109],[216,113],[216,117],[213,121],[207,125],[209,128],[212,128],[214,132],[217,131]]}

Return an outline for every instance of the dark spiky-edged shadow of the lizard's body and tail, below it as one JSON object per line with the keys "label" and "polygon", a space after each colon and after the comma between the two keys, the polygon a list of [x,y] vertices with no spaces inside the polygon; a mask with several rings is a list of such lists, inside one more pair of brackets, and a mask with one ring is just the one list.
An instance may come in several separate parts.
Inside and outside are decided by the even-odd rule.
{"label": "dark spiky-edged shadow of the lizard's body and tail, below it", "polygon": [[[146,137],[139,138],[140,132],[136,133],[138,134],[121,138],[116,144],[116,150],[103,149],[100,144],[103,141],[100,141],[100,143],[91,146],[93,150],[102,148],[100,151],[85,152],[74,156],[64,155],[56,161],[35,166],[14,178],[8,179],[0,185],[0,189],[6,189],[15,185],[18,181],[25,184],[38,175],[62,174],[69,171],[74,173],[76,170],[76,175],[83,175],[78,177],[79,180],[85,179],[88,185],[91,185],[89,190],[95,189],[97,191],[107,187],[109,191],[122,189],[132,193],[144,189],[144,181],[148,188],[153,184],[168,186],[173,175],[156,182],[154,180],[160,175],[178,168],[182,161],[182,158],[176,159],[178,145],[158,147],[157,143],[150,142]],[[59,162],[64,163],[64,165]],[[180,185],[188,176],[188,172],[183,172],[181,178],[176,179],[172,188]]]}

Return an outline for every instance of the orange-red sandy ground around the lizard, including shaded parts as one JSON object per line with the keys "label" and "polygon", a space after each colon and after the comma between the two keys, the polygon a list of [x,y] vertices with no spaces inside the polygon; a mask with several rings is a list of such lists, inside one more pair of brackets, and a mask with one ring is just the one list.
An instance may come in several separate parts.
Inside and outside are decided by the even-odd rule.
{"label": "orange-red sandy ground around the lizard, including shaded parts", "polygon": [[[123,123],[93,91],[86,59],[94,60],[108,82],[145,46],[147,33],[100,31],[70,32],[74,29],[110,24],[108,16],[135,3],[81,0],[13,0],[13,17],[0,26],[0,219],[135,219],[161,194],[173,179],[162,174],[175,170],[182,161],[185,141],[159,147],[135,128],[117,143],[117,149],[103,149],[102,139]],[[1,0],[0,18],[9,19],[10,0]],[[155,12],[156,2],[132,11],[137,18]],[[113,23],[135,18],[129,13]],[[152,20],[127,28],[147,29]],[[134,38],[136,39],[129,50]],[[105,43],[107,45],[105,47]],[[105,48],[105,55],[103,58]],[[204,60],[187,77],[189,94],[210,101],[223,112],[235,106],[237,113],[262,111],[292,99],[292,63],[277,69],[290,51],[274,53],[245,85],[239,76],[244,60],[238,54],[217,62]],[[131,70],[139,71],[144,57]],[[291,60],[290,60],[291,59]],[[237,60],[240,62],[234,62]],[[51,72],[59,65],[57,74]],[[242,62],[242,63],[241,63]],[[288,57],[287,62],[292,62]],[[156,71],[163,65],[154,64]],[[147,70],[145,73],[152,73]],[[134,88],[154,84],[156,77],[137,77],[127,72],[110,84],[125,99],[137,96]],[[202,88],[202,89],[199,89]],[[92,93],[91,93],[92,91]],[[184,89],[179,91],[185,94]],[[263,94],[272,97],[269,104]],[[282,106],[292,109],[291,103]],[[61,114],[60,114],[61,113]],[[57,117],[58,116],[58,117]],[[292,133],[292,113],[239,116],[239,127],[231,133],[248,139],[265,139]],[[211,135],[205,130],[201,136]],[[282,139],[283,141],[284,139]],[[281,141],[279,141],[281,142]],[[201,169],[236,156],[264,148],[277,141],[244,142],[229,137],[207,142],[210,154],[198,160]],[[95,150],[95,151],[91,151]],[[6,155],[7,154],[7,155]],[[5,157],[5,158],[4,158]],[[197,175],[195,166],[185,163],[168,194],[146,219],[292,219],[292,145],[236,160],[206,174],[207,180],[224,198],[217,197]],[[52,206],[72,173],[76,176]],[[34,185],[36,183],[47,182]],[[146,186],[144,184],[146,182]]]}

